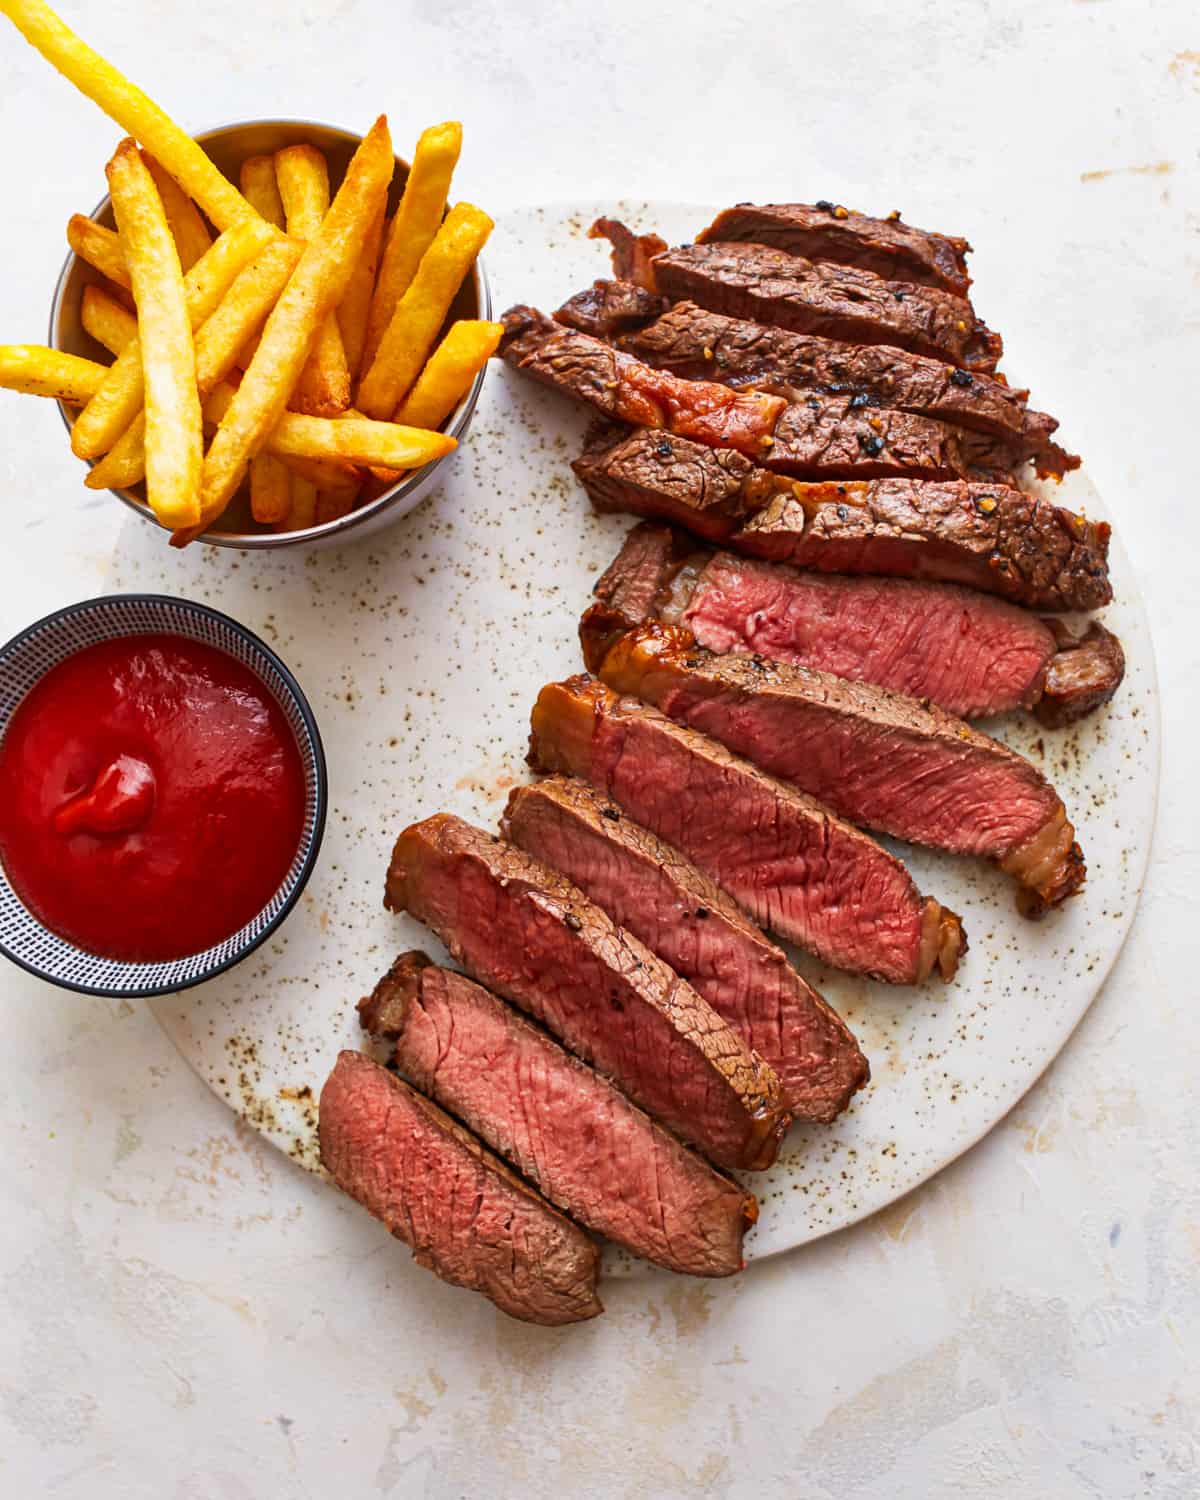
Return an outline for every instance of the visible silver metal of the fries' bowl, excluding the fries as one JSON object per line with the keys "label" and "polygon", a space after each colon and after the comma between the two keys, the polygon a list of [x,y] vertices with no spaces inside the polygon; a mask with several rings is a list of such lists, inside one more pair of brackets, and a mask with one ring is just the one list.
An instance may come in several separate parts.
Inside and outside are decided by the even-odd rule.
{"label": "visible silver metal of the fries' bowl, excluding the fries", "polygon": [[[345,176],[350,159],[354,154],[362,136],[350,130],[340,130],[333,124],[318,124],[312,120],[249,120],[243,124],[224,124],[214,130],[204,130],[196,136],[207,154],[216,162],[222,172],[237,182],[242,164],[248,156],[267,156],[285,146],[309,144],[326,153],[328,160],[330,186],[336,190]],[[393,213],[408,180],[408,164],[396,158],[396,176],[388,192],[388,213]],[[92,214],[93,219],[114,226],[112,204],[104,198]],[[108,363],[111,356],[102,350],[84,332],[81,321],[81,302],[84,286],[88,282],[102,284],[104,278],[86,261],[70,254],[58,276],[54,290],[54,304],[50,312],[50,342],[56,350],[66,350],[69,354],[81,354],[84,358]],[[472,273],[459,290],[454,304],[447,316],[447,327],[456,318],[490,318],[492,294],[488,286],[488,274],[483,261],[476,261]],[[459,442],[466,436],[471,417],[483,388],[486,366],[474,378],[471,388],[447,417],[442,430]],[[58,402],[63,422],[70,428],[75,411]],[[375,500],[368,501],[348,516],[338,520],[327,520],[320,526],[309,526],[304,531],[268,531],[248,518],[244,507],[234,502],[213,530],[206,531],[201,542],[208,542],[218,548],[294,548],[320,546],[327,543],[344,543],[351,537],[358,538],[381,531],[384,526],[406,516],[410,510],[420,504],[429,489],[438,482],[440,468],[453,454],[434,459],[424,468],[414,470],[392,489],[384,490]],[[134,489],[114,489],[114,495],[124,501],[142,519],[158,525],[153,512],[146,504],[146,488],[136,484]]]}

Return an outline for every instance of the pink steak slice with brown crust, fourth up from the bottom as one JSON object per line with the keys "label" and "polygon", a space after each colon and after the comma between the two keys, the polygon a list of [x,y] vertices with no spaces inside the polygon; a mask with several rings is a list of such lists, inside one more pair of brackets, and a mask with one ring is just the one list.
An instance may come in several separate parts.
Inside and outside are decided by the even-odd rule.
{"label": "pink steak slice with brown crust, fourth up from the bottom", "polygon": [[834,1119],[867,1082],[867,1059],[849,1028],[786,956],[678,849],[586,782],[552,776],[516,788],[502,830],[561,870],[741,1032],[778,1074],[796,1119]]}

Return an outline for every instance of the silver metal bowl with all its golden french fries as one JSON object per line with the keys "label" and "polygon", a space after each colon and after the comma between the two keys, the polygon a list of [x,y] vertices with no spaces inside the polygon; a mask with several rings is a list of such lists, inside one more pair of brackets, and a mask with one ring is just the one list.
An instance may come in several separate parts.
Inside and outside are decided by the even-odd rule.
{"label": "silver metal bowl with all its golden french fries", "polygon": [[176,546],[340,542],[418,504],[501,333],[492,220],[450,200],[462,128],[411,165],[386,116],[194,138],[44,0],[0,14],[128,132],[68,225],[50,346],[0,345],[0,387],[56,398],[84,483]]}

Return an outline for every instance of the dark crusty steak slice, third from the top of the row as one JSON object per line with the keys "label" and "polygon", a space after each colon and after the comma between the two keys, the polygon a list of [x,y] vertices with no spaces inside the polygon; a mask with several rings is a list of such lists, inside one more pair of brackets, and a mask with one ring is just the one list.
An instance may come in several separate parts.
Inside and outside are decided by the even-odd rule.
{"label": "dark crusty steak slice, third from the top of the row", "polygon": [[[1041,476],[1059,477],[1080,465],[1074,453],[1052,441],[1056,418],[1044,411],[1030,411],[1028,392],[992,375],[972,375],[944,360],[924,358],[886,344],[838,344],[744,318],[726,318],[693,302],[680,302],[646,322],[644,316],[634,316],[626,286],[626,282],[596,282],[555,316],[562,321],[582,318],[590,298],[592,309],[609,308],[610,312],[602,318],[594,310],[597,326],[588,332],[600,332],[606,326],[603,338],[624,333],[622,350],[682,380],[716,380],[735,390],[754,387],[789,400],[804,392],[816,392],[849,398],[860,408],[885,406],[916,417],[934,417],[1000,438],[1012,446],[1018,459],[1032,459]],[[628,291],[644,298],[639,312],[650,306],[639,288]]]}

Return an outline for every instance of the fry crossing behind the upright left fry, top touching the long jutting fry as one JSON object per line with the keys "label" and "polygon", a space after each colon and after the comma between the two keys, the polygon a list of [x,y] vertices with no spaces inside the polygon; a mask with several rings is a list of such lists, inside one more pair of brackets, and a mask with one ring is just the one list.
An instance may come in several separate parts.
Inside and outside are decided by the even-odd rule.
{"label": "fry crossing behind the upright left fry, top touching the long jutting fry", "polygon": [[[0,0],[3,3],[3,0]],[[274,237],[256,214],[219,236],[183,278],[188,318],[200,327],[232,285],[237,273]],[[136,417],[144,398],[141,345],[122,350],[104,384],[70,429],[70,452],[81,459],[106,453]]]}

